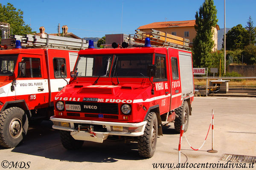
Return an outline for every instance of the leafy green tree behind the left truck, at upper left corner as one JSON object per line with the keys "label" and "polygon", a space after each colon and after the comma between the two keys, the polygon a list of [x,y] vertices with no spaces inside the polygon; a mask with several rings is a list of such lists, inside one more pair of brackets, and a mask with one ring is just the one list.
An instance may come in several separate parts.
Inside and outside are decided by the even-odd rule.
{"label": "leafy green tree behind the left truck, at upper left corner", "polygon": [[6,6],[2,6],[0,3],[0,22],[9,23],[14,35],[35,33],[32,32],[29,25],[25,24],[23,12],[20,9],[16,9],[11,3],[7,3]]}

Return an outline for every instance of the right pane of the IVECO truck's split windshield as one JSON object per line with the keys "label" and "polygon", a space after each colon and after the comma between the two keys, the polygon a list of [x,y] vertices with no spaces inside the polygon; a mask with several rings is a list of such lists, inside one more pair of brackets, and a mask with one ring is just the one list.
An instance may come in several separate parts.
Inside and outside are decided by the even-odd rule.
{"label": "right pane of the IVECO truck's split windshield", "polygon": [[153,54],[115,55],[112,77],[147,77],[147,66]]}

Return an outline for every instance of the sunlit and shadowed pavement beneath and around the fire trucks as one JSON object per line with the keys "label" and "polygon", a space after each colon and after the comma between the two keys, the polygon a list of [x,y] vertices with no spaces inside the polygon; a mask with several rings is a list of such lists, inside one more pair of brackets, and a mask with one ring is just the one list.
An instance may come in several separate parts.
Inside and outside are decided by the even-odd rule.
{"label": "sunlit and shadowed pavement beneath and around the fire trucks", "polygon": [[[183,138],[181,163],[190,165],[190,168],[181,169],[232,169],[230,162],[220,161],[224,154],[256,156],[255,105],[256,98],[195,97],[186,137],[192,147],[199,148],[206,137],[214,109],[214,149],[218,153],[207,152],[212,146],[211,131],[199,151],[192,150]],[[85,142],[80,150],[67,151],[61,145],[58,131],[52,130],[51,122],[43,121],[41,126],[29,128],[27,137],[20,146],[12,149],[0,148],[0,170],[9,169],[11,166],[7,167],[7,164],[15,166],[16,162],[23,167],[20,169],[31,170],[174,169],[170,166],[178,163],[179,134],[173,130],[173,123],[169,125],[164,128],[164,135],[157,139],[154,156],[143,159],[138,156],[136,142]],[[218,164],[227,163],[227,168],[217,168]],[[201,164],[208,164],[208,168],[202,168]],[[256,166],[249,168],[248,163],[245,165],[247,168],[234,169],[256,169]],[[241,164],[241,167],[245,165]]]}

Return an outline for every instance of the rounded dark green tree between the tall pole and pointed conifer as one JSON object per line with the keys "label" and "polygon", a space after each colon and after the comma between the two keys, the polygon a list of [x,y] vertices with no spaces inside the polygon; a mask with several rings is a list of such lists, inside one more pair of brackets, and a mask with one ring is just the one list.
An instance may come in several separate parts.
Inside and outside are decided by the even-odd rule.
{"label": "rounded dark green tree between the tall pole and pointed conifer", "polygon": [[[246,46],[246,37],[247,30],[243,28],[241,24],[234,26],[230,29],[226,34],[226,49],[234,50],[234,49],[243,49]],[[224,41],[224,35],[223,35]],[[222,43],[222,48],[224,48],[224,44]]]}

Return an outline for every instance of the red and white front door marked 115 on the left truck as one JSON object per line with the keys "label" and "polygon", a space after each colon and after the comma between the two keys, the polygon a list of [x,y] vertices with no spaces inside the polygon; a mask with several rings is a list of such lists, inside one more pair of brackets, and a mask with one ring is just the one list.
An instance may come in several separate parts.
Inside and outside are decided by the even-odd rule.
{"label": "red and white front door marked 115 on the left truck", "polygon": [[38,109],[48,105],[49,89],[46,70],[44,71],[42,55],[20,54],[21,62],[26,63],[24,76],[16,79],[15,100],[25,100],[29,109]]}

